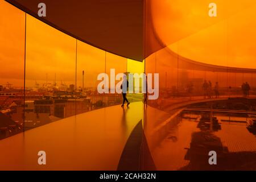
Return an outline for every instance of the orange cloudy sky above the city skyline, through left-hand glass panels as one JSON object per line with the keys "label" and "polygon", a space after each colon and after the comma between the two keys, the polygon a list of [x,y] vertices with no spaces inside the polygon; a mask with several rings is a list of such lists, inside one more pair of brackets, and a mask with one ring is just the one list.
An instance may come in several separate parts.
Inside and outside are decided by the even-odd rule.
{"label": "orange cloudy sky above the city skyline, through left-hand glass panels", "polygon": [[[0,43],[2,49],[0,61],[3,69],[0,72],[0,85],[8,81],[14,86],[23,86],[25,15],[7,2],[0,2],[0,10],[3,10],[0,36],[3,39]],[[70,85],[76,83],[76,78],[79,87],[82,86],[82,71],[84,71],[85,87],[96,88],[99,73],[108,73],[110,68],[115,68],[116,73],[127,70],[127,59],[124,57],[102,51],[79,40],[76,42],[75,38],[28,14],[26,21],[26,86],[28,87],[35,86],[35,83],[53,84],[55,79],[59,85],[61,82]]]}

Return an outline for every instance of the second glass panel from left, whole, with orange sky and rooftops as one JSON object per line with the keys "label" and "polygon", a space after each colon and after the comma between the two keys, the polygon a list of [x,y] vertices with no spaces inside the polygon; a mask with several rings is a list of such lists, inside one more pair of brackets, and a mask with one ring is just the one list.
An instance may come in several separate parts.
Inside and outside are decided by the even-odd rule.
{"label": "second glass panel from left, whole, with orange sky and rooftops", "polygon": [[25,128],[75,115],[76,39],[27,15]]}

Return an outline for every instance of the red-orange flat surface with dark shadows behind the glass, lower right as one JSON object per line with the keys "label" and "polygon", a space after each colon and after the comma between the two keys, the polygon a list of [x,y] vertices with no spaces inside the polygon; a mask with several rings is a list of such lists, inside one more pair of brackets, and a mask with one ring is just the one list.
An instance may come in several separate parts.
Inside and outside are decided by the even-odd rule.
{"label": "red-orange flat surface with dark shadows behind the glass, lower right", "polygon": [[[246,118],[214,115],[219,125],[209,130],[200,125],[201,115],[176,117],[152,157],[159,170],[255,170],[256,135]],[[249,118],[247,118],[249,119]],[[217,165],[210,166],[208,152],[217,152]]]}

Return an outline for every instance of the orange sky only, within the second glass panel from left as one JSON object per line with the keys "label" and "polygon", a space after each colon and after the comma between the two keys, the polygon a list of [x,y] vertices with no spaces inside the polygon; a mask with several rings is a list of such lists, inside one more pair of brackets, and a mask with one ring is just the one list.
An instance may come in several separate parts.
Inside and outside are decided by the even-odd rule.
{"label": "orange sky only, within the second glass panel from left", "polygon": [[26,86],[75,84],[76,39],[27,15]]}

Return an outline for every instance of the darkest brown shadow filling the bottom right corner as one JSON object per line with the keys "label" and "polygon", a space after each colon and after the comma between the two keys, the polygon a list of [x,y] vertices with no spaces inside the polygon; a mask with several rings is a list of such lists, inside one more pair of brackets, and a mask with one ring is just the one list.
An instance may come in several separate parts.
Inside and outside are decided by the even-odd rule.
{"label": "darkest brown shadow filling the bottom right corner", "polygon": [[[216,151],[217,165],[209,164],[209,151]],[[185,160],[189,164],[179,170],[256,170],[256,152],[229,152],[210,131],[192,134]]]}

